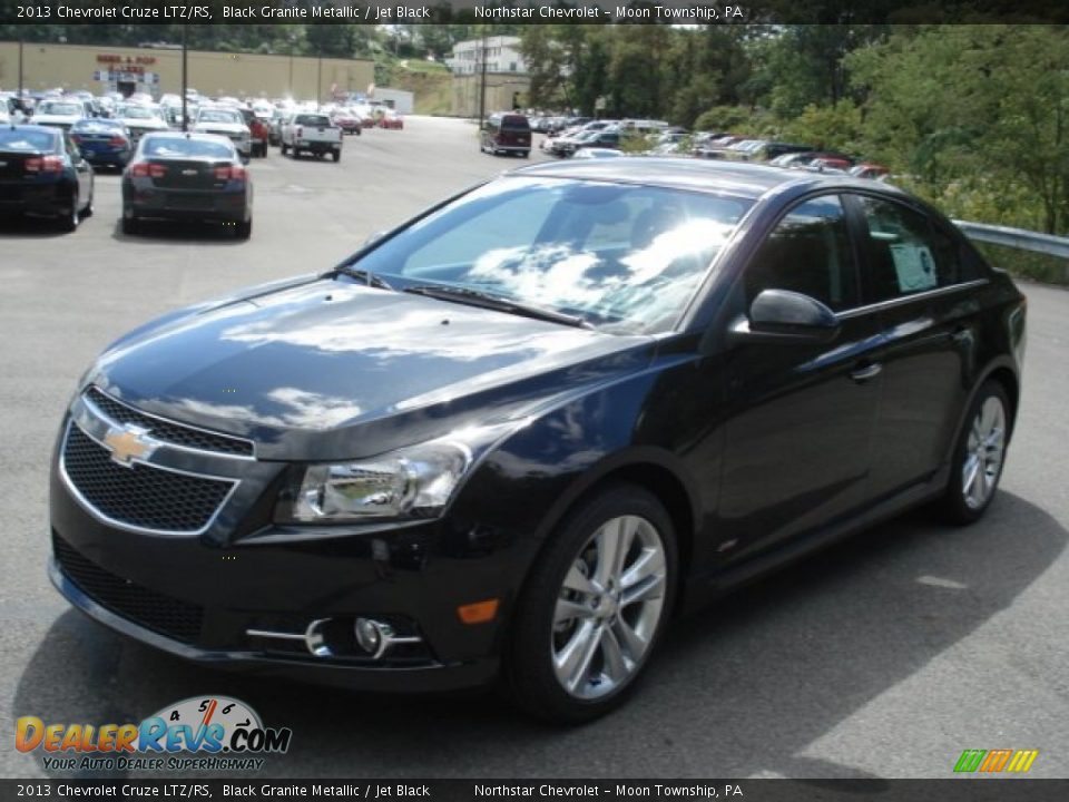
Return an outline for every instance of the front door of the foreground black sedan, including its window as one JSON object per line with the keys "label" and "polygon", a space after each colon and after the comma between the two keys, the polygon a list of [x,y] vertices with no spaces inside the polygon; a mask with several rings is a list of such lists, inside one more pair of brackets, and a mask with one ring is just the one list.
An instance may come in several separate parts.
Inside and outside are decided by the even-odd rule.
{"label": "front door of the foreground black sedan, including its window", "polygon": [[830,342],[744,341],[726,353],[716,529],[728,561],[846,516],[867,497],[881,322],[860,309],[857,248],[837,195],[801,202],[766,236],[736,292],[748,310],[764,290],[816,299],[841,327]]}

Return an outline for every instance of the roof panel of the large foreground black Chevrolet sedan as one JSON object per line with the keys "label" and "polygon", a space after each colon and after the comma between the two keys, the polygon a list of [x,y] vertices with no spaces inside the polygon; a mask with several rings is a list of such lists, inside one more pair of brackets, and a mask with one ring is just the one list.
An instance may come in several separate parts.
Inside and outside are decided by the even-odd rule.
{"label": "roof panel of the large foreground black Chevrolet sedan", "polygon": [[[648,184],[677,189],[718,192],[756,199],[778,187],[836,186],[872,188],[870,180],[845,175],[787,170],[747,162],[717,159],[629,157],[546,163],[521,167],[512,175],[540,175],[579,180]],[[892,187],[881,185],[886,190]]]}

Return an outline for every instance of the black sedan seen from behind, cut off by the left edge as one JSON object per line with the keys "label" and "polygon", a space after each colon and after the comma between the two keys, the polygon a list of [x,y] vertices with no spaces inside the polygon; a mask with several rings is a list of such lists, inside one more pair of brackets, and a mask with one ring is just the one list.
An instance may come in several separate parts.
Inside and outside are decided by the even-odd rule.
{"label": "black sedan seen from behind, cut off by the left edge", "polygon": [[0,214],[55,217],[73,231],[92,214],[92,167],[58,127],[0,128]]}

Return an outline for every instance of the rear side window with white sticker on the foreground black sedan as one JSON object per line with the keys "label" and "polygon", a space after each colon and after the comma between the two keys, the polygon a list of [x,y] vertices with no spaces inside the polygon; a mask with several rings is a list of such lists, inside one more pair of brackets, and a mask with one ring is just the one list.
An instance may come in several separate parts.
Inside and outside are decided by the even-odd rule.
{"label": "rear side window with white sticker on the foreground black sedan", "polygon": [[870,301],[913,295],[975,277],[963,267],[959,242],[926,215],[893,200],[857,198],[869,226]]}

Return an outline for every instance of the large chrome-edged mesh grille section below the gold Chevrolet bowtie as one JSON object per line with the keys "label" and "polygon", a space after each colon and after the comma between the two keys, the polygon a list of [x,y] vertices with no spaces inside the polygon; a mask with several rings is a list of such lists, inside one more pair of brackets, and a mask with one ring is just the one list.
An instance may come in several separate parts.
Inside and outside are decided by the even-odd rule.
{"label": "large chrome-edged mesh grille section below the gold Chevrolet bowtie", "polygon": [[226,500],[233,482],[176,473],[145,464],[129,468],[70,423],[63,472],[82,498],[112,521],[157,531],[204,529]]}

